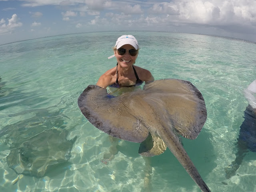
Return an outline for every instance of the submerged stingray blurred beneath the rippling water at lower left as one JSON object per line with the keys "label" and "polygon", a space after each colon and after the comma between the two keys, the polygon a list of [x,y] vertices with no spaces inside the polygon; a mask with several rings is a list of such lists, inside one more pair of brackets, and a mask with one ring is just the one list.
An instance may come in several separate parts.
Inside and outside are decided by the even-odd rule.
{"label": "submerged stingray blurred beneath the rippling water at lower left", "polygon": [[8,166],[17,174],[43,177],[53,167],[67,162],[76,140],[67,140],[68,131],[60,128],[44,130],[10,151]]}

